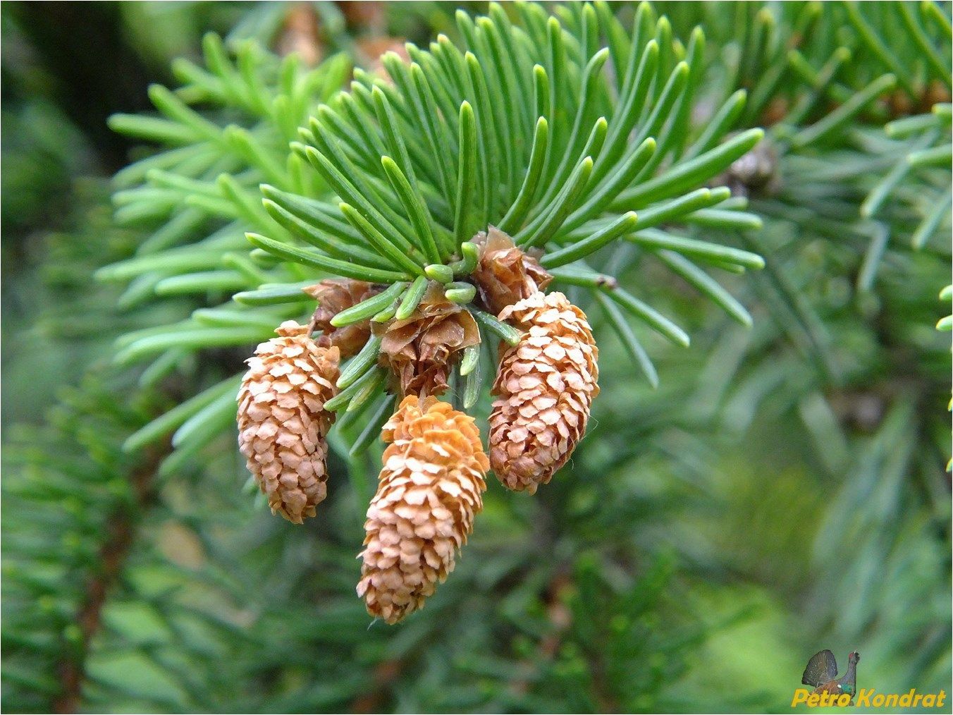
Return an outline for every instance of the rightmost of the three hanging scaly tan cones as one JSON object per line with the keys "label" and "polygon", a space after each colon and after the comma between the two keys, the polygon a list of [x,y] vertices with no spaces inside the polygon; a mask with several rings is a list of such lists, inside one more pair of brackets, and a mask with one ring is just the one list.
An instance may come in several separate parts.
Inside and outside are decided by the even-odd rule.
{"label": "rightmost of the three hanging scaly tan cones", "polygon": [[533,494],[566,463],[598,395],[598,348],[585,315],[561,293],[536,293],[500,320],[525,331],[499,358],[490,463],[508,488]]}

